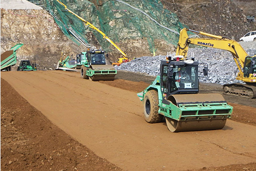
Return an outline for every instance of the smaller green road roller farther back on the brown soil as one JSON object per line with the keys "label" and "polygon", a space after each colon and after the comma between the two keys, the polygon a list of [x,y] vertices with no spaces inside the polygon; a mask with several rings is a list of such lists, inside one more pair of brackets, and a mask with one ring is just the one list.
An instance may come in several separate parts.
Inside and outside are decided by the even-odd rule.
{"label": "smaller green road roller farther back on the brown soil", "polygon": [[89,49],[77,55],[81,64],[81,78],[92,81],[114,80],[117,70],[113,65],[107,65],[105,52],[98,49]]}

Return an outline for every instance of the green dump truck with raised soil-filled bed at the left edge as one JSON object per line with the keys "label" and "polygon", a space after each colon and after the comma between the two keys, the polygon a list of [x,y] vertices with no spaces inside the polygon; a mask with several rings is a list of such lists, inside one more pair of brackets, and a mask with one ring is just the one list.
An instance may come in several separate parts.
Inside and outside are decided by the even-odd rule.
{"label": "green dump truck with raised soil-filled bed at the left edge", "polygon": [[23,43],[18,43],[10,50],[1,54],[1,71],[11,71],[11,66],[17,64],[16,50],[23,46]]}

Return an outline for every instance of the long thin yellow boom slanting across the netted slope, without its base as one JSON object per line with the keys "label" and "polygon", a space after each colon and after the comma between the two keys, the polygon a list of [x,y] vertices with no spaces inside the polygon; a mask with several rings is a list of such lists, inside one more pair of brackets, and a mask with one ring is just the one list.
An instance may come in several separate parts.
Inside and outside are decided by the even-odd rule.
{"label": "long thin yellow boom slanting across the netted slope, without its base", "polygon": [[84,24],[86,24],[86,26],[89,26],[90,28],[92,28],[92,29],[98,31],[98,32],[103,36],[103,39],[106,39],[106,40],[107,40],[109,43],[111,43],[115,48],[117,48],[118,51],[119,51],[121,54],[123,54],[124,58],[128,59],[128,58],[127,58],[127,55],[126,55],[117,45],[115,45],[115,43],[114,43],[112,40],[110,40],[110,39],[106,36],[105,33],[103,33],[101,30],[97,29],[97,28],[96,28],[95,26],[93,26],[93,24],[91,24],[90,22],[84,20],[82,17],[80,17],[80,16],[78,16],[77,14],[75,14],[75,12],[71,11],[70,9],[68,9],[64,3],[60,2],[59,0],[56,0],[56,1],[57,1],[58,3],[60,3],[61,5],[63,5],[63,7],[65,8],[65,10],[69,11],[71,14],[75,15],[77,18],[79,18],[80,20],[82,20],[82,21],[84,22]]}

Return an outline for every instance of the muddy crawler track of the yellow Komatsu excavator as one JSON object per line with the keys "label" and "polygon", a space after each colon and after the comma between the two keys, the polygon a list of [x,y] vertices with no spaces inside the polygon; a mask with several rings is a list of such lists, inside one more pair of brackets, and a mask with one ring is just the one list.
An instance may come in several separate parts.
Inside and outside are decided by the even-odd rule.
{"label": "muddy crawler track of the yellow Komatsu excavator", "polygon": [[223,85],[225,94],[240,96],[245,98],[256,98],[256,86],[247,84],[225,84]]}

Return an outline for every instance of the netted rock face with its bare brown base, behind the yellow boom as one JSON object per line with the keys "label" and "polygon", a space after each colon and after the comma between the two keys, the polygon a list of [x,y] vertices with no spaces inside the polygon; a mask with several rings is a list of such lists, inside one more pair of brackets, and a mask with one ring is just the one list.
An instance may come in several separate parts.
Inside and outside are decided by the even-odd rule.
{"label": "netted rock face with its bare brown base, behind the yellow boom", "polygon": [[[51,4],[51,3],[50,3]],[[184,26],[178,16],[163,8],[160,1],[66,1],[71,11],[92,23],[109,37],[130,58],[165,53],[174,49],[179,30]],[[76,28],[81,35],[92,32],[83,22],[65,11],[58,3],[50,5],[56,16],[66,26]],[[60,10],[59,10],[59,9]],[[120,52],[97,31],[94,37],[100,46],[109,51],[109,60],[115,61]],[[87,41],[90,42],[88,37]]]}

